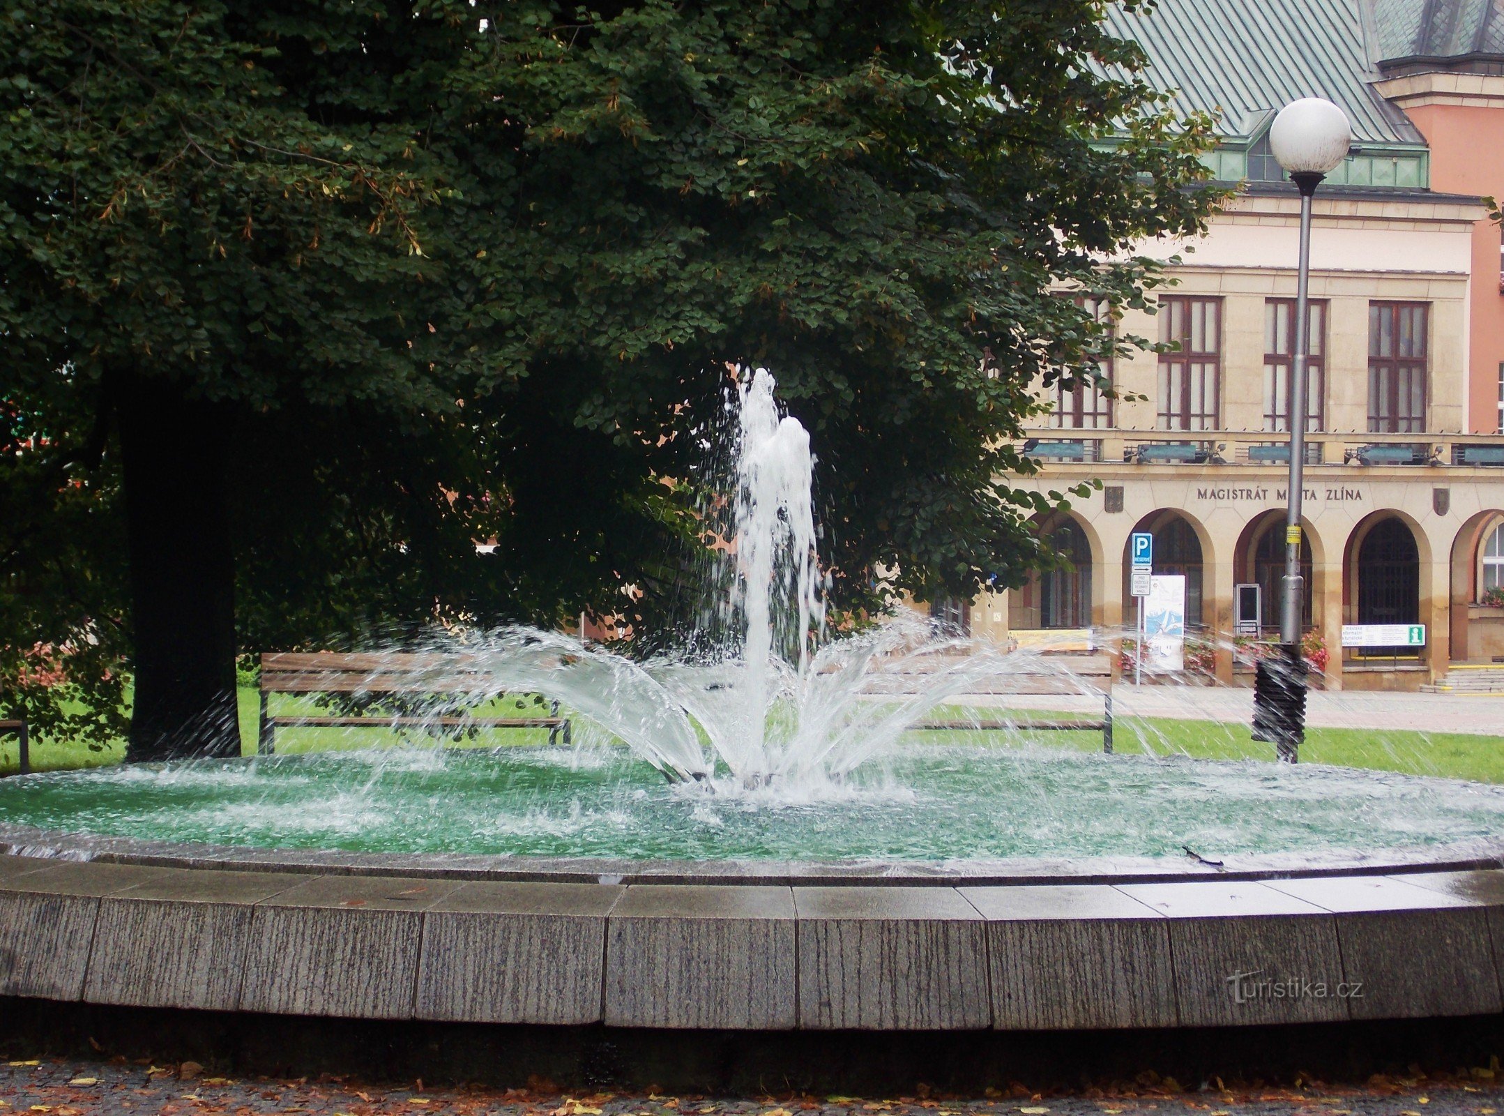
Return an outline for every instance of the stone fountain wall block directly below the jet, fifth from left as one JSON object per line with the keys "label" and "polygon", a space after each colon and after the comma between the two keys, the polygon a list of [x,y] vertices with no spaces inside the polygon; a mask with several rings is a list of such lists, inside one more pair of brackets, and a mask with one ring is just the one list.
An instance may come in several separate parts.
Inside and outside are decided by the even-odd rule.
{"label": "stone fountain wall block directly below the jet, fifth from left", "polygon": [[788,887],[630,886],[606,923],[605,1021],[793,1027],[794,951]]}

